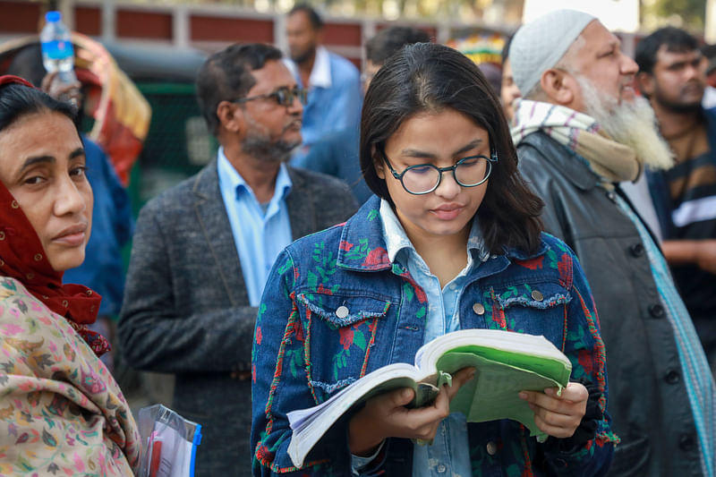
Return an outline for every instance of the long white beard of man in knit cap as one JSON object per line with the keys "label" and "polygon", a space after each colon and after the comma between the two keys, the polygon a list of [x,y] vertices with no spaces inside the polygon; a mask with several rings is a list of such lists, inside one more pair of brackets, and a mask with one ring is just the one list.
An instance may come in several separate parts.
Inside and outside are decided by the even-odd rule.
{"label": "long white beard of man in knit cap", "polygon": [[646,98],[636,97],[634,102],[619,104],[586,78],[576,76],[576,81],[582,89],[586,114],[611,139],[634,149],[639,162],[653,169],[669,169],[674,165],[674,154],[657,130],[656,115]]}

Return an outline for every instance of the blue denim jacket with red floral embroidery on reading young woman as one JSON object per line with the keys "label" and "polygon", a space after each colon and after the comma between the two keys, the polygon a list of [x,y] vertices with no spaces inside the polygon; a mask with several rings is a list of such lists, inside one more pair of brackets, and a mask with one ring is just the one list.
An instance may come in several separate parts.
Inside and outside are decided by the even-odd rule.
{"label": "blue denim jacket with red floral embroidery on reading young woman", "polygon": [[[251,357],[253,474],[351,475],[345,415],[320,439],[303,469],[287,449],[286,413],[317,405],[368,372],[410,362],[422,345],[427,300],[405,268],[388,260],[372,197],[345,224],[289,245],[268,277]],[[518,422],[469,423],[473,475],[604,475],[618,438],[606,413],[607,378],[599,320],[584,273],[567,245],[542,234],[540,251],[508,249],[470,272],[461,328],[546,336],[572,362],[572,379],[601,390],[594,439],[564,450]],[[337,313],[337,310],[341,311]],[[346,313],[347,309],[347,313]],[[413,443],[388,439],[365,475],[410,475]]]}

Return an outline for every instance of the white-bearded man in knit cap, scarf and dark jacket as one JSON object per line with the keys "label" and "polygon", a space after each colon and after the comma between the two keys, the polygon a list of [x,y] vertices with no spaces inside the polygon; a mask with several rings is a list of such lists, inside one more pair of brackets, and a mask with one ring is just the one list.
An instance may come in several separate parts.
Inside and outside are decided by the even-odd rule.
{"label": "white-bearded man in knit cap, scarf and dark jacket", "polygon": [[716,389],[703,348],[649,226],[619,183],[668,167],[653,112],[631,88],[636,64],[586,13],[517,31],[513,139],[542,219],[576,252],[607,353],[609,413],[621,438],[610,475],[714,473]]}

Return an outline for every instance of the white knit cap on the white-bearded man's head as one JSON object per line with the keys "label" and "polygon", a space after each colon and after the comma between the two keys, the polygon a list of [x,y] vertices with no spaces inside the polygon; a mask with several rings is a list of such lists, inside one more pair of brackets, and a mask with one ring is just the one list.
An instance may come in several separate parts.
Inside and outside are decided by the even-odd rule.
{"label": "white knit cap on the white-bearded man's head", "polygon": [[575,10],[557,10],[524,24],[509,45],[509,64],[523,95],[539,84],[572,46],[582,30],[596,17]]}

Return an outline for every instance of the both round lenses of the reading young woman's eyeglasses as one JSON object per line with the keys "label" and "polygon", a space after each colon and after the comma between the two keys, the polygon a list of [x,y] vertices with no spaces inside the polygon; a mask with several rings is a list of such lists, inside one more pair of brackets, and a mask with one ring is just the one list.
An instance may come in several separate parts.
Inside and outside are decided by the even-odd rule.
{"label": "both round lenses of the reading young woman's eyeglasses", "polygon": [[[453,170],[457,183],[470,187],[485,180],[490,172],[490,166],[487,158],[474,157],[462,159]],[[446,172],[450,173],[450,171]],[[437,187],[441,174],[438,167],[430,164],[409,167],[403,173],[403,185],[409,192],[429,192]]]}

